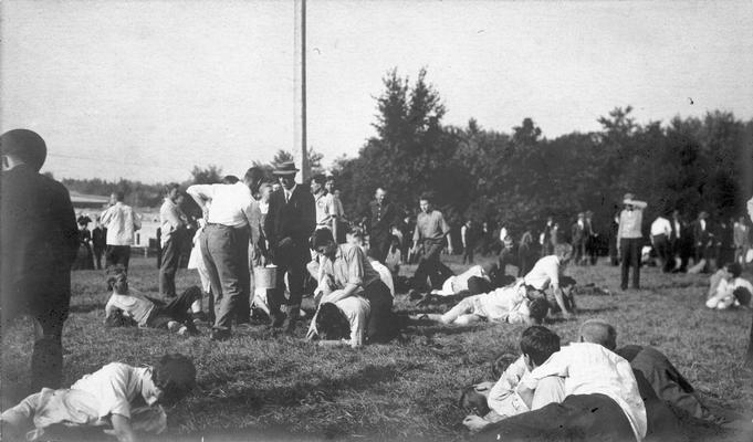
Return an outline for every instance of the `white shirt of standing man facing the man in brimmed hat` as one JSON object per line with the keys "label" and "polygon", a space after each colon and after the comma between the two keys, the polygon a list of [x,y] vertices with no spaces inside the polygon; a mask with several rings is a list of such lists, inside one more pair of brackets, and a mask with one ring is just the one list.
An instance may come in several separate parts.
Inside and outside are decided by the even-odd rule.
{"label": "white shirt of standing man facing the man in brimmed hat", "polygon": [[202,200],[210,200],[207,222],[232,228],[259,223],[261,211],[251,194],[251,189],[242,181],[234,185],[194,185],[186,193]]}

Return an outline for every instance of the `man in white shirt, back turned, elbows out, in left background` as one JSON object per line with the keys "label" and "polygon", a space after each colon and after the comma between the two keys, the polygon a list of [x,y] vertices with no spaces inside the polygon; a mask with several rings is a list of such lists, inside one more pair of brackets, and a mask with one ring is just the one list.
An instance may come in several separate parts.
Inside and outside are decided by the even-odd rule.
{"label": "man in white shirt, back turned, elbows out, in left background", "polygon": [[127,272],[134,232],[142,228],[142,220],[130,206],[123,203],[123,198],[121,191],[109,196],[109,208],[102,212],[100,222],[107,229],[106,265],[122,264]]}

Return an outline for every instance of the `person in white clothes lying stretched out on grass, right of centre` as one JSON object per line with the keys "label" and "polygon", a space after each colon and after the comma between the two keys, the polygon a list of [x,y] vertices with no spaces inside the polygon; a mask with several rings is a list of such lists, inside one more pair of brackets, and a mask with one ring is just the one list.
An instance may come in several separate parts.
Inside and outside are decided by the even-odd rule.
{"label": "person in white clothes lying stretched out on grass, right of centre", "polygon": [[520,280],[513,285],[463,298],[443,315],[425,314],[415,318],[454,325],[471,325],[483,320],[541,324],[550,304],[545,298],[535,296],[537,292],[529,290],[523,280]]}

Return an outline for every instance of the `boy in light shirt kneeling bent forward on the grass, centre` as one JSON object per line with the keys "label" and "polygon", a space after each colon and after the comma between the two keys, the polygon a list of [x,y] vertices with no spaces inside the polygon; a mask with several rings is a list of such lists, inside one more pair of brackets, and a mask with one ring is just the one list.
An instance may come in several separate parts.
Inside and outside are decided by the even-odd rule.
{"label": "boy in light shirt kneeling bent forward on the grass, centre", "polygon": [[[348,344],[358,347],[365,341],[388,340],[391,337],[390,327],[395,323],[393,296],[369,264],[364,251],[354,244],[338,245],[327,229],[314,232],[312,249],[321,259],[321,293],[317,294],[320,305],[332,304],[326,307],[328,311],[336,313],[334,308],[337,308],[343,312],[343,316],[351,323]],[[318,322],[322,320],[317,322],[321,311],[321,307],[317,308],[317,314],[312,319],[307,339],[317,335]],[[360,320],[363,317],[366,317],[365,322]],[[356,319],[358,324],[355,324]]]}

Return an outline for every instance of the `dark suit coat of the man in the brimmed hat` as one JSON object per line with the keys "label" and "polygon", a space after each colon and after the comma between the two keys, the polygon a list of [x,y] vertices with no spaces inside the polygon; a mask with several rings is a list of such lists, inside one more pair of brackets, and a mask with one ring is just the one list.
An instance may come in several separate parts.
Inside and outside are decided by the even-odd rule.
{"label": "dark suit coat of the man in the brimmed hat", "polygon": [[[290,201],[285,203],[283,189],[270,196],[270,210],[264,219],[264,233],[270,242],[275,264],[290,263],[290,257],[300,263],[311,261],[308,239],[316,227],[316,204],[314,196],[303,185],[295,186]],[[280,250],[278,244],[284,238],[293,240],[289,251]],[[290,252],[290,253],[287,253]]]}

